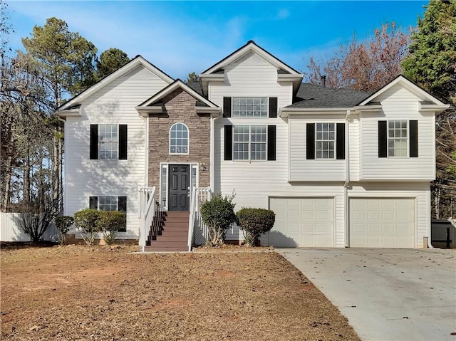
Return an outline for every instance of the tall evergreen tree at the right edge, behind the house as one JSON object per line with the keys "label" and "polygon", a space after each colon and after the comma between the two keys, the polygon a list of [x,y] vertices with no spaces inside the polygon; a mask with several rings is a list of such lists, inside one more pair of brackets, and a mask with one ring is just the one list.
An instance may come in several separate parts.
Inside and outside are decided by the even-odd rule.
{"label": "tall evergreen tree at the right edge, behind the house", "polygon": [[437,179],[432,184],[432,216],[448,218],[456,204],[456,0],[430,1],[418,19],[403,68],[405,76],[450,103],[437,116]]}

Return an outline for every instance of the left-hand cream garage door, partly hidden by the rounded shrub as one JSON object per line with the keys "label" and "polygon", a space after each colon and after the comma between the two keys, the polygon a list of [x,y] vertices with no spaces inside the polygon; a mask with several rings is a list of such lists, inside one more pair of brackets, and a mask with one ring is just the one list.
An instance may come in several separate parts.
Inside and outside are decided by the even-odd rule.
{"label": "left-hand cream garage door, partly hidden by the rounded shrub", "polygon": [[269,245],[276,247],[333,247],[332,198],[269,198],[276,214]]}

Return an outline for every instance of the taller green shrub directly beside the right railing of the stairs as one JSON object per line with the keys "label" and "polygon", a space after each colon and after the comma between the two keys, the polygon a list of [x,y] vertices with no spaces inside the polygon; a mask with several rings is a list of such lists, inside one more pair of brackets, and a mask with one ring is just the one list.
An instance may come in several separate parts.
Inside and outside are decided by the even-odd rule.
{"label": "taller green shrub directly beside the right railing of the stairs", "polygon": [[212,199],[201,205],[201,216],[204,224],[209,229],[209,246],[220,246],[223,244],[225,232],[236,222],[234,214],[233,196],[222,196],[214,194]]}

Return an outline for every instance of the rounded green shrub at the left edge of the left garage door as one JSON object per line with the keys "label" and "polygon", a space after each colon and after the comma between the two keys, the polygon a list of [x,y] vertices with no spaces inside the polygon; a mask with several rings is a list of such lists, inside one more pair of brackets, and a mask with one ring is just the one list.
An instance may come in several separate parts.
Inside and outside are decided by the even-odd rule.
{"label": "rounded green shrub at the left edge of the left garage door", "polygon": [[276,214],[269,209],[243,207],[236,215],[239,229],[242,229],[245,242],[249,246],[258,246],[259,236],[271,230],[276,221]]}

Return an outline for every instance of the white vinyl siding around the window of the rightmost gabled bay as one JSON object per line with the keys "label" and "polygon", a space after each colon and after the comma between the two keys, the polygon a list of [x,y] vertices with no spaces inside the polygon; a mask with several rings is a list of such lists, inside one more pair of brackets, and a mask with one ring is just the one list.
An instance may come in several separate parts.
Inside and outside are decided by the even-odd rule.
{"label": "white vinyl siding around the window of the rightmost gabled bay", "polygon": [[[401,85],[394,85],[378,98],[381,114],[361,113],[361,179],[427,180],[435,179],[435,118],[431,113],[418,112],[422,100]],[[379,120],[418,120],[418,157],[378,157]],[[408,149],[409,142],[406,142]]]}

